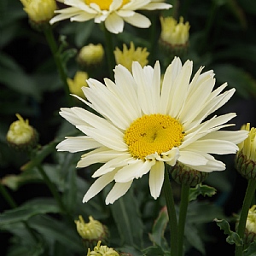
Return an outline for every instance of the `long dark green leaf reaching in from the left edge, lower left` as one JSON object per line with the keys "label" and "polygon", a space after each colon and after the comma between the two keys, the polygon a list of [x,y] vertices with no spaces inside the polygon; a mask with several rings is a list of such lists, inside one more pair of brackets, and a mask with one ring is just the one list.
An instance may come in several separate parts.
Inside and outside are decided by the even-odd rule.
{"label": "long dark green leaf reaching in from the left edge, lower left", "polygon": [[48,198],[38,198],[27,201],[20,207],[7,210],[0,215],[0,228],[6,224],[14,224],[20,221],[27,221],[32,216],[44,213],[60,212],[55,201]]}

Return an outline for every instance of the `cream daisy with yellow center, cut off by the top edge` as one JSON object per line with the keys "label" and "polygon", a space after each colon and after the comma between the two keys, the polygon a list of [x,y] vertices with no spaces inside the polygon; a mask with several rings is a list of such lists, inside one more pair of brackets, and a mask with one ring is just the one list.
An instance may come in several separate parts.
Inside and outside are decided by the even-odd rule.
{"label": "cream daisy with yellow center, cut off by the top edge", "polygon": [[[60,1],[60,0],[58,0]],[[138,14],[137,9],[169,9],[172,6],[162,3],[162,0],[64,0],[61,1],[69,7],[55,11],[55,16],[50,23],[70,19],[71,21],[93,20],[96,23],[104,22],[109,32],[123,32],[124,23],[132,26],[146,28],[150,20]]]}

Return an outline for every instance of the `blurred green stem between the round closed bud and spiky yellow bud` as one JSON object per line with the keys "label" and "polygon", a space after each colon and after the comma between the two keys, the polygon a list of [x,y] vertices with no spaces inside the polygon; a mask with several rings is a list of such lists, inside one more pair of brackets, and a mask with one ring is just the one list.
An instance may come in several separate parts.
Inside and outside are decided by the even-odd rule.
{"label": "blurred green stem between the round closed bud and spiky yellow bud", "polygon": [[106,26],[104,26],[104,34],[105,34],[109,77],[110,77],[110,79],[113,80],[113,68],[115,66],[115,60],[114,60],[114,55],[113,55],[113,38],[112,38],[111,32],[108,31]]}

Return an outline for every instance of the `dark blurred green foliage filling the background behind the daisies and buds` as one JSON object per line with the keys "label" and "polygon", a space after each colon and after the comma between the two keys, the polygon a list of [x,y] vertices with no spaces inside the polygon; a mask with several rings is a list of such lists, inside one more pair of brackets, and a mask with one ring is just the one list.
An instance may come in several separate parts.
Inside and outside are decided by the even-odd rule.
{"label": "dark blurred green foliage filling the background behind the daisies and buds", "polygon": [[[236,95],[221,109],[237,113],[234,129],[240,129],[246,122],[256,125],[256,2],[182,0],[178,10],[190,23],[189,51],[183,61],[194,61],[194,70],[200,66],[206,66],[205,70],[213,69],[217,85],[227,81],[230,87],[236,88]],[[155,26],[143,30],[125,24],[125,31],[115,37],[114,44],[122,48],[122,44],[130,45],[133,41],[136,46],[147,47],[149,64],[154,65],[154,61],[160,59],[164,70],[171,57],[166,58],[158,44],[152,44],[157,43],[160,35],[158,14],[147,15]],[[75,55],[82,46],[90,43],[104,46],[101,26],[92,21],[62,21],[55,26],[55,38],[64,49],[62,57],[71,78],[79,69]],[[104,60],[101,68],[90,70],[90,77],[99,80],[108,77],[107,61]],[[73,105],[79,104],[73,101]],[[55,151],[55,145],[64,136],[78,132],[59,116],[61,107],[67,107],[67,102],[44,34],[32,29],[20,1],[1,0],[0,177],[19,207],[11,210],[0,197],[0,212],[3,212],[0,253],[9,256],[85,255],[73,223],[79,215],[86,221],[92,215],[108,225],[109,246],[123,247],[133,255],[157,255],[159,250],[165,251],[166,240],[162,232],[166,214],[164,210],[160,212],[165,201],[161,197],[154,201],[149,196],[147,177],[134,183],[130,193],[112,206],[104,204],[106,190],[82,204],[84,193],[92,182],[90,174],[96,166],[77,170],[75,166],[80,154]],[[42,148],[32,162],[28,155],[15,152],[6,143],[6,133],[16,119],[15,113],[29,119],[39,132]],[[212,220],[232,218],[234,212],[239,212],[246,182],[234,169],[234,155],[225,157],[224,161],[227,170],[212,173],[206,181],[217,189],[216,195],[200,196],[189,205],[185,230],[188,255],[215,255],[220,245],[227,247],[229,254],[226,255],[233,255],[234,247],[226,245],[222,231]],[[63,213],[56,205],[38,165],[44,167],[55,183],[67,212]],[[178,202],[179,187],[173,185]],[[33,241],[24,228],[25,222],[39,234],[39,242]]]}

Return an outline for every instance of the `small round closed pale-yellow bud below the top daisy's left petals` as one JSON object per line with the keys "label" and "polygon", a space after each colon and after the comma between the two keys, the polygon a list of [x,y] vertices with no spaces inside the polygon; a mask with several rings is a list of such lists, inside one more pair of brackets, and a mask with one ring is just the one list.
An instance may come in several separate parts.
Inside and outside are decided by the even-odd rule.
{"label": "small round closed pale-yellow bud below the top daisy's left petals", "polygon": [[79,50],[78,62],[81,67],[95,67],[102,63],[103,57],[102,44],[88,44]]}

